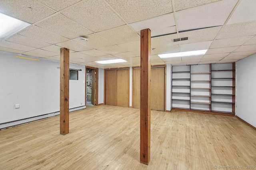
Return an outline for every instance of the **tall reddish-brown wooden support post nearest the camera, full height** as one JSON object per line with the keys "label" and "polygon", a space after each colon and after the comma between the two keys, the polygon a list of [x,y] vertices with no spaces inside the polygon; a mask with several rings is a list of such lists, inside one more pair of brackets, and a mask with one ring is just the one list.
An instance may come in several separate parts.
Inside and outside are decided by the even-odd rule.
{"label": "tall reddish-brown wooden support post nearest the camera, full height", "polygon": [[151,31],[140,31],[140,162],[150,161]]}

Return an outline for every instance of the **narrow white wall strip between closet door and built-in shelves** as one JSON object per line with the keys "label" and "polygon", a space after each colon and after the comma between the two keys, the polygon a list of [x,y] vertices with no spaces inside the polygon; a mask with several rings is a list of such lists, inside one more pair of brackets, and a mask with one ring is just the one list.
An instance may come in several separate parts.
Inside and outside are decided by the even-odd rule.
{"label": "narrow white wall strip between closet door and built-in shelves", "polygon": [[171,64],[166,65],[166,110],[171,111],[172,109],[172,66]]}

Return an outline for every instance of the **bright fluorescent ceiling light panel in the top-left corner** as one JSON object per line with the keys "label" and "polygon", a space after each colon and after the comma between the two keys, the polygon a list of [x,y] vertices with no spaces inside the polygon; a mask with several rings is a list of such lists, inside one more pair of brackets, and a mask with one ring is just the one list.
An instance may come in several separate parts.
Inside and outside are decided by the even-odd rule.
{"label": "bright fluorescent ceiling light panel in the top-left corner", "polygon": [[29,23],[17,20],[1,13],[0,23],[0,39],[6,39],[30,25]]}

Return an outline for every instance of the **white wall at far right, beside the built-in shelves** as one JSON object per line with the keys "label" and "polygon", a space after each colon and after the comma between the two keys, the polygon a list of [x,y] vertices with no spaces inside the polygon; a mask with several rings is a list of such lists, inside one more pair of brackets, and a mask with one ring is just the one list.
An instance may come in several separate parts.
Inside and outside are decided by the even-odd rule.
{"label": "white wall at far right, beside the built-in shelves", "polygon": [[256,54],[236,63],[236,115],[256,127]]}

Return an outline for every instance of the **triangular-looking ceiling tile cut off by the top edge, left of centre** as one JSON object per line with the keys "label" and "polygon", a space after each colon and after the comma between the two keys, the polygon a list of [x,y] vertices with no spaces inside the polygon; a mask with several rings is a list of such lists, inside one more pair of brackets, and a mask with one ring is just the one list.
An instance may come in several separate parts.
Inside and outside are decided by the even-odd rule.
{"label": "triangular-looking ceiling tile cut off by the top edge, left of centre", "polygon": [[64,8],[67,8],[70,5],[75,4],[76,2],[79,2],[81,0],[38,0],[45,4],[46,6],[49,6],[50,8],[60,11],[63,10]]}

